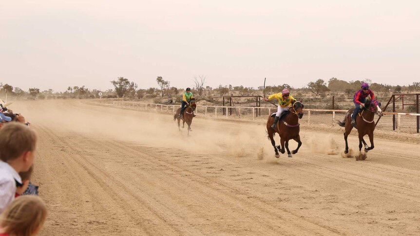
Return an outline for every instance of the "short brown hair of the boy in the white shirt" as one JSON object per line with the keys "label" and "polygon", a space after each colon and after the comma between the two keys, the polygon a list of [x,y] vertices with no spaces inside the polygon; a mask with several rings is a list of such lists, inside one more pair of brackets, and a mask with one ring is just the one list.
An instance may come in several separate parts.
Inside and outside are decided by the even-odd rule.
{"label": "short brown hair of the boy in the white shirt", "polygon": [[0,160],[8,162],[27,151],[35,151],[37,134],[18,122],[10,122],[0,129]]}

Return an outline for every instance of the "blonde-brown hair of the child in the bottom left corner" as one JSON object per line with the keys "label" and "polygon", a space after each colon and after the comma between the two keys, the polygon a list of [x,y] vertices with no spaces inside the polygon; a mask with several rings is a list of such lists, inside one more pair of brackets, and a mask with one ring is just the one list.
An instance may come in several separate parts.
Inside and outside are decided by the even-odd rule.
{"label": "blonde-brown hair of the child in the bottom left corner", "polygon": [[3,234],[32,236],[47,218],[47,207],[38,197],[25,195],[16,198],[1,214],[0,227]]}

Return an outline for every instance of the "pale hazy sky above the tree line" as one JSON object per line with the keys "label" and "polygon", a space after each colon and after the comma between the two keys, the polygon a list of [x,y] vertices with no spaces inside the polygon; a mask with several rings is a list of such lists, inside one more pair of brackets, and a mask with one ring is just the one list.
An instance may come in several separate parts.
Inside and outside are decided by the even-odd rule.
{"label": "pale hazy sky above the tree line", "polygon": [[[88,3],[86,3],[88,2]],[[420,81],[420,2],[1,0],[0,82],[23,90]]]}

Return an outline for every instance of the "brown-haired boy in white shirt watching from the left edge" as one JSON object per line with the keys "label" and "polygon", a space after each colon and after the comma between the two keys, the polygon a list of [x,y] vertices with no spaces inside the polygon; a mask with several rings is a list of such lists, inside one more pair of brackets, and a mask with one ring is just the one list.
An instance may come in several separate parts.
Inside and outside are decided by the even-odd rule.
{"label": "brown-haired boy in white shirt watching from the left edge", "polygon": [[0,213],[14,200],[16,185],[22,185],[19,172],[34,163],[37,135],[20,123],[8,123],[0,129]]}

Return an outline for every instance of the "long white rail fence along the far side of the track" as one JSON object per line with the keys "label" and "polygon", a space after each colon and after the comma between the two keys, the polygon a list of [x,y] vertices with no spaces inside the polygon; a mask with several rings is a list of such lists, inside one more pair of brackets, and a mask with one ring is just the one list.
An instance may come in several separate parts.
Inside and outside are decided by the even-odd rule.
{"label": "long white rail fence along the far side of the track", "polygon": [[[128,102],[128,101],[113,101],[113,105],[131,109],[154,110],[160,112],[172,112],[180,108],[180,105],[166,105],[157,103],[142,103],[142,102]],[[196,115],[205,115],[216,118],[232,118],[240,119],[247,118],[252,120],[267,119],[268,115],[276,112],[277,108],[267,107],[228,107],[228,106],[197,106],[194,113]],[[304,109],[304,118],[302,122],[307,124],[331,124],[335,126],[337,120],[344,120],[344,115],[347,110],[330,110],[330,109]],[[398,113],[398,112],[383,112],[384,115],[378,123],[377,127],[393,127],[392,115],[395,115],[396,129],[398,132],[401,128],[415,129],[417,113]]]}

